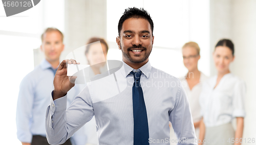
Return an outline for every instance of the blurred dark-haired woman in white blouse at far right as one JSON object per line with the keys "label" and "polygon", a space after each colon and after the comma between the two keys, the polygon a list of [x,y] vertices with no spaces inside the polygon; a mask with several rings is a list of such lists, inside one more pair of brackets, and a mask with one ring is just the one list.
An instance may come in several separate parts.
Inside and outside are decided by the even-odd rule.
{"label": "blurred dark-haired woman in white blouse at far right", "polygon": [[[200,124],[200,143],[235,144],[242,142],[244,128],[245,83],[229,71],[234,60],[234,45],[228,39],[220,40],[213,53],[218,75],[203,83],[200,105],[203,121]],[[237,119],[234,131],[231,121]]]}

